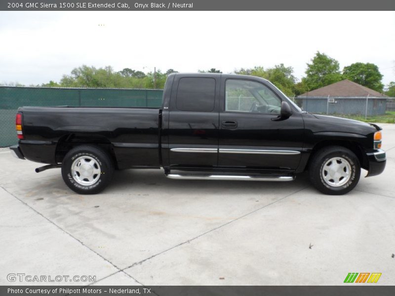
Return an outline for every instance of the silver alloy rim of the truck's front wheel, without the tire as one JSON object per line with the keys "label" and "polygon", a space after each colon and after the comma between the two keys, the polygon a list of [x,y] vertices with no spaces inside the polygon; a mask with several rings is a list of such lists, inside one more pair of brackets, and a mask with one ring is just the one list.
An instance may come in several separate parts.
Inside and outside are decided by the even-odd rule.
{"label": "silver alloy rim of the truck's front wheel, without the tire", "polygon": [[345,185],[351,177],[351,165],[343,157],[333,157],[322,167],[322,179],[327,185],[339,187]]}

